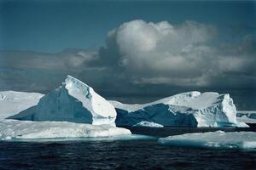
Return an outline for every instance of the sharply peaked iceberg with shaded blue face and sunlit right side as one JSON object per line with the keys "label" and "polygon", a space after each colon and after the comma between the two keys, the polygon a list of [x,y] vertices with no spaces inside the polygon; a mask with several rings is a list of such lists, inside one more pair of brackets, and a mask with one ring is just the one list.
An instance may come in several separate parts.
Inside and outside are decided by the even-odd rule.
{"label": "sharply peaked iceberg with shaded blue face and sunlit right side", "polygon": [[116,111],[106,99],[78,79],[67,76],[61,87],[11,119],[115,125]]}

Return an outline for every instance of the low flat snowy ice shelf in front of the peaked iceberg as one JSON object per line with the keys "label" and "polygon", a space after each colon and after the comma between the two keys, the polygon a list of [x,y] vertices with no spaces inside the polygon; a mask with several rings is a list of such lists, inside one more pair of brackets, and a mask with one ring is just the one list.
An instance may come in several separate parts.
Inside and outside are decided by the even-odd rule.
{"label": "low flat snowy ice shelf in front of the peaked iceberg", "polygon": [[0,121],[0,139],[52,139],[110,137],[131,134],[130,130],[110,125],[74,122],[31,122],[6,119]]}

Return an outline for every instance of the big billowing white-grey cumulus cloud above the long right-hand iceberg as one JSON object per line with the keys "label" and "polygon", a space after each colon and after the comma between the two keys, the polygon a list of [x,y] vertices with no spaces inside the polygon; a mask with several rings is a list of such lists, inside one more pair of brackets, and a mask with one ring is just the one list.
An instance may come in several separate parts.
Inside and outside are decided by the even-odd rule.
{"label": "big billowing white-grey cumulus cloud above the long right-hand iceberg", "polygon": [[216,42],[217,26],[191,20],[180,25],[132,20],[108,33],[105,51],[118,51],[114,59],[135,84],[211,87],[224,75],[229,81],[234,72],[246,74],[246,82],[252,81],[256,63],[253,37],[242,37],[238,44],[230,42],[225,47]]}

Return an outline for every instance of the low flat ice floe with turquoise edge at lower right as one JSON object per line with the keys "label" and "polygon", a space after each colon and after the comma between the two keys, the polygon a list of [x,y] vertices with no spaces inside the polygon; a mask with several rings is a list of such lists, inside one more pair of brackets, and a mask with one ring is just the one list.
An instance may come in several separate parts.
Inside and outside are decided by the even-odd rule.
{"label": "low flat ice floe with turquoise edge at lower right", "polygon": [[223,131],[211,133],[186,133],[183,135],[160,138],[158,139],[158,143],[172,146],[188,146],[200,148],[255,149],[256,133],[224,133]]}

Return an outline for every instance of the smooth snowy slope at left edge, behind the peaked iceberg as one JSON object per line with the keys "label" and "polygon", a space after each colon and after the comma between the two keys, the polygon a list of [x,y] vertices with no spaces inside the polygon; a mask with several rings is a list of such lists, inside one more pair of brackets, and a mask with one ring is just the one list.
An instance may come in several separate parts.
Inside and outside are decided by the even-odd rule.
{"label": "smooth snowy slope at left edge, behind the peaked iceberg", "polygon": [[3,91],[0,92],[0,120],[37,105],[44,94]]}

